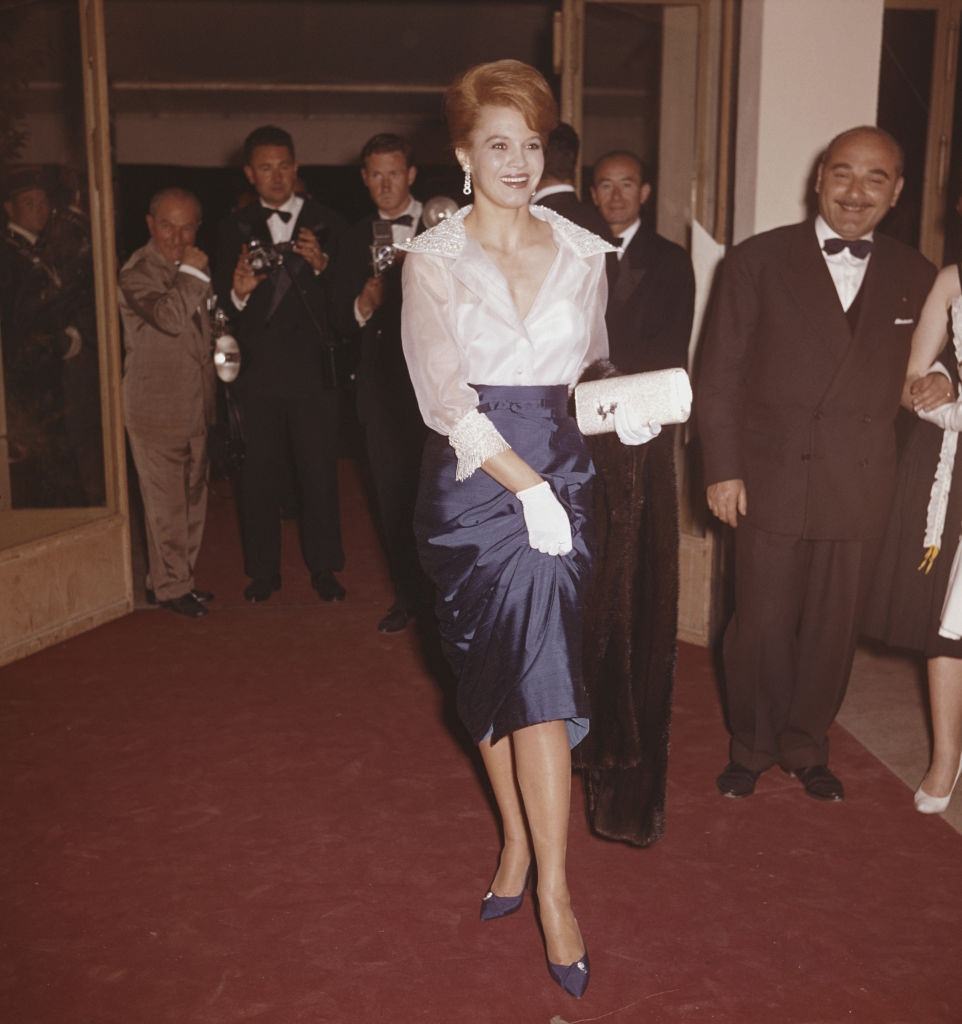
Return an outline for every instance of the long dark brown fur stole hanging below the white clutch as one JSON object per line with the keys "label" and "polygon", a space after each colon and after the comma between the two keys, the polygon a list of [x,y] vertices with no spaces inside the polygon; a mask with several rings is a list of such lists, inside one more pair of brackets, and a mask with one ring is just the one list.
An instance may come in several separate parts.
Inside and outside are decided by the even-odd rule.
{"label": "long dark brown fur stole hanging below the white clutch", "polygon": [[[607,361],[584,380],[618,376]],[[677,651],[678,506],[672,430],[630,447],[588,437],[597,470],[595,566],[585,606],[591,729],[576,749],[591,828],[636,846],[665,826]]]}

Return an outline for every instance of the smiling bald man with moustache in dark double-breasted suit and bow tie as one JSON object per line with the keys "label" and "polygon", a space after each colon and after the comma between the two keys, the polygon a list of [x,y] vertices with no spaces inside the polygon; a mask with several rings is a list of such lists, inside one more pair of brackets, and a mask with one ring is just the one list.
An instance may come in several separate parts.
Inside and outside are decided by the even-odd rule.
{"label": "smiling bald man with moustache in dark double-breasted suit and bow tie", "polygon": [[751,795],[773,764],[810,797],[843,797],[827,733],[891,501],[894,419],[934,276],[875,231],[898,200],[902,165],[887,133],[842,133],[819,167],[818,217],[749,239],[722,267],[695,394],[708,505],[737,527],[723,652],[731,751],[717,781],[728,797]]}

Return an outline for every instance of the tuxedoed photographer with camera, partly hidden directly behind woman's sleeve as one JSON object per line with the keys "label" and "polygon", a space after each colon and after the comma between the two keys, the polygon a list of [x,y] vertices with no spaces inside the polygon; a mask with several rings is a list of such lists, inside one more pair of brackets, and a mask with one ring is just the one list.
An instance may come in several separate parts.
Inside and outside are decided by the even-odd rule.
{"label": "tuxedoed photographer with camera, partly hidden directly behind woman's sleeve", "polygon": [[358,418],[365,432],[378,521],[394,601],[378,623],[381,633],[408,624],[423,587],[412,520],[424,422],[401,347],[401,260],[372,265],[375,234],[387,244],[421,230],[421,204],[412,197],[417,168],[411,144],[379,134],[361,153],[361,177],[376,209],[344,236],[336,272],[338,326],[361,336]]}

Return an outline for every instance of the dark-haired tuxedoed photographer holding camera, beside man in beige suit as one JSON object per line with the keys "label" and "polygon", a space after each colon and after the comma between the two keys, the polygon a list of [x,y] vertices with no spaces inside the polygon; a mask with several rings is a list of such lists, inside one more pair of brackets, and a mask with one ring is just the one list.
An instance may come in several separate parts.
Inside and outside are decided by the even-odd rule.
{"label": "dark-haired tuxedoed photographer holding camera, beside man in beige suit", "polygon": [[[340,601],[343,567],[337,499],[337,391],[331,376],[331,288],[340,218],[297,196],[291,136],[267,125],[244,143],[244,174],[258,201],[223,222],[214,290],[243,356],[234,385],[244,425],[241,521],[249,601],[281,586],[283,464],[290,451],[300,499],[301,550],[322,600]],[[283,259],[251,262],[257,244]],[[275,249],[275,252],[278,250]]]}

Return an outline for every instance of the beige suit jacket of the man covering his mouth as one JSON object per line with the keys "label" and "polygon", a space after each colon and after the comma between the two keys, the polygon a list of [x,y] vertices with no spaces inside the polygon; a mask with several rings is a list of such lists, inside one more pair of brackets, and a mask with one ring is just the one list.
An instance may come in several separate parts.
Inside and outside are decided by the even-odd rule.
{"label": "beige suit jacket of the man covering his mouth", "polygon": [[120,271],[124,419],[144,436],[197,437],[214,420],[211,286],[149,242]]}

